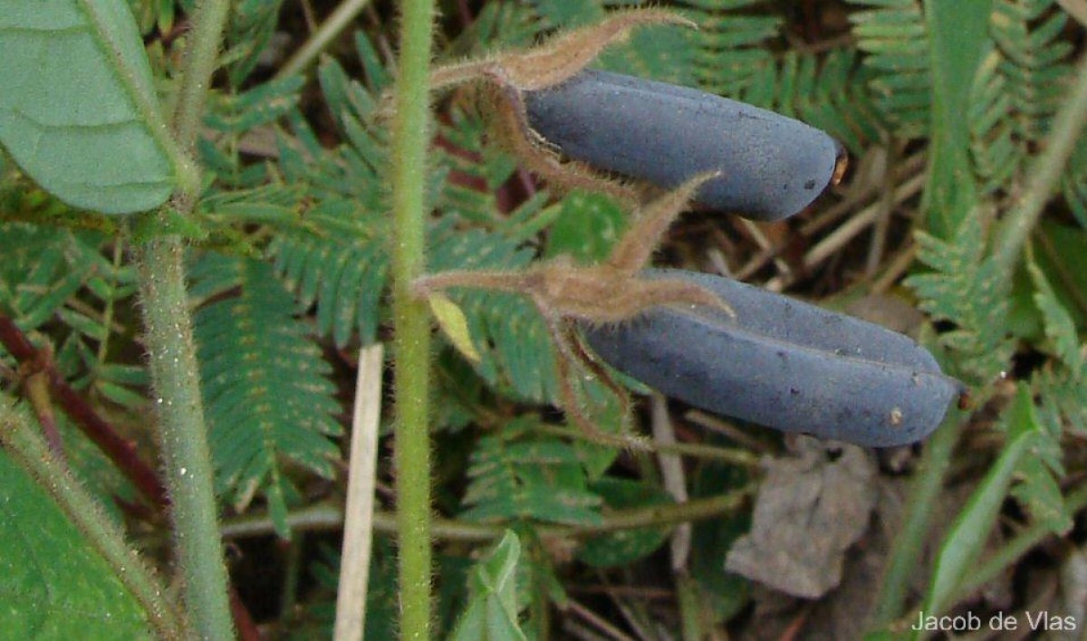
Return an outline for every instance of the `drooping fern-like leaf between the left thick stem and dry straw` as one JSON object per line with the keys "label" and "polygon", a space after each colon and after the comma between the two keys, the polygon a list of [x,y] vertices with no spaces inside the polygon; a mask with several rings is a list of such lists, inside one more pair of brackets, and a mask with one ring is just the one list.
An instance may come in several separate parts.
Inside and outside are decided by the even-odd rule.
{"label": "drooping fern-like leaf between the left thick stem and dry straw", "polygon": [[197,312],[195,329],[218,491],[239,510],[263,493],[286,537],[287,464],[330,478],[339,457],[330,367],[270,265],[209,255],[192,277],[195,291],[224,294]]}

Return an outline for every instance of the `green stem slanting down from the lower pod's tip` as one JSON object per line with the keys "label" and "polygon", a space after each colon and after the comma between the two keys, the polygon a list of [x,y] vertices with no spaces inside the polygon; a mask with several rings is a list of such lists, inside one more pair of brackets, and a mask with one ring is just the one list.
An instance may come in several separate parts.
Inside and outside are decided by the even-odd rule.
{"label": "green stem slanting down from the lower pod's tip", "polygon": [[925,535],[932,525],[934,504],[944,489],[944,477],[951,463],[951,453],[959,442],[959,431],[967,418],[963,412],[952,407],[944,418],[944,424],[925,443],[916,476],[910,487],[907,514],[891,545],[884,570],[879,600],[872,614],[873,628],[884,628],[898,618],[905,602],[910,580],[916,576],[921,563],[921,551]]}

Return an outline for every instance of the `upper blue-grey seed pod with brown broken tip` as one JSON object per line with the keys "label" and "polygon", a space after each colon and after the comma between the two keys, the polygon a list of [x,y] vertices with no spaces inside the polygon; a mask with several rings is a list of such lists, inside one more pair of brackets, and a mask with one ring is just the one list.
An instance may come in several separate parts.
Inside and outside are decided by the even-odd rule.
{"label": "upper blue-grey seed pod with brown broken tip", "polygon": [[532,127],[564,155],[664,189],[720,171],[696,200],[754,219],[791,216],[845,171],[825,133],[689,87],[585,71],[524,96]]}

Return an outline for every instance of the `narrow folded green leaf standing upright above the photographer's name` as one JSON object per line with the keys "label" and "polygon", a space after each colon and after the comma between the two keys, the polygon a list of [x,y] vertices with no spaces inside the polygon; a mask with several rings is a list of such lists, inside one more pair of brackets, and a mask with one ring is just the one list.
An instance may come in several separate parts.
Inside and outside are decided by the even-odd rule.
{"label": "narrow folded green leaf standing upright above the photographer's name", "polygon": [[924,612],[938,615],[953,605],[955,590],[963,575],[982,553],[1020,460],[1038,440],[1040,427],[1035,417],[1034,402],[1027,386],[1020,386],[1008,413],[1008,444],[989,473],[978,485],[966,507],[959,514],[940,548],[925,600]]}

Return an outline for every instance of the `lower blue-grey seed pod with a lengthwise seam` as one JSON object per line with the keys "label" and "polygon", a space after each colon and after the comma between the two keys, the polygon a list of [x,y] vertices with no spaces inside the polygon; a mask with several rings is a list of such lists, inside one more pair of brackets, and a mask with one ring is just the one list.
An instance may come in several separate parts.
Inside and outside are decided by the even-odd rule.
{"label": "lower blue-grey seed pod with a lengthwise seam", "polygon": [[709,274],[646,276],[697,282],[736,317],[654,307],[584,335],[613,367],[696,407],[885,448],[928,436],[964,390],[924,348],[878,325]]}

